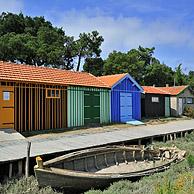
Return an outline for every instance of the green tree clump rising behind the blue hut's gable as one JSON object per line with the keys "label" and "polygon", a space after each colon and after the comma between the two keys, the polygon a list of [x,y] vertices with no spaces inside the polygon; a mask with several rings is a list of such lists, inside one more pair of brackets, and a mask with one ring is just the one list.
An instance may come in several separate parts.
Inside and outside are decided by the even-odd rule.
{"label": "green tree clump rising behind the blue hut's gable", "polygon": [[104,64],[104,74],[129,73],[142,85],[173,84],[173,70],[153,57],[155,48],[131,49],[127,53],[113,51]]}

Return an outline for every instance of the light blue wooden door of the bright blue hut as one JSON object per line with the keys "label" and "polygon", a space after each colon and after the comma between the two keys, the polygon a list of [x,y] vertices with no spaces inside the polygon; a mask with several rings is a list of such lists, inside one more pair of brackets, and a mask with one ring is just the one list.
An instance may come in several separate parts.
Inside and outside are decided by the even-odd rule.
{"label": "light blue wooden door of the bright blue hut", "polygon": [[132,108],[132,94],[120,93],[120,120],[122,123],[132,120],[133,108]]}

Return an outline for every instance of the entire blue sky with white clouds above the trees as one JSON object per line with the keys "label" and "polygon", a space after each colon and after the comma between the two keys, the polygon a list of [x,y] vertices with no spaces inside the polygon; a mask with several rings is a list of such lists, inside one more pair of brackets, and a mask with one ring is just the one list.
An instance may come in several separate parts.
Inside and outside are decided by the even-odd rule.
{"label": "entire blue sky with white clouds above the trees", "polygon": [[155,57],[194,70],[193,0],[0,0],[0,12],[44,16],[67,35],[98,30],[102,56],[113,50],[156,48]]}

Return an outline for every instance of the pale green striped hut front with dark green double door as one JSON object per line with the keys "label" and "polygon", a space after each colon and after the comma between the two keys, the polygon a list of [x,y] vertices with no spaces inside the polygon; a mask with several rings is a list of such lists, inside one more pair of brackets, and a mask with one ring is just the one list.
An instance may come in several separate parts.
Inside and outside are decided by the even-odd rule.
{"label": "pale green striped hut front with dark green double door", "polygon": [[100,87],[67,87],[67,125],[110,122],[110,91]]}

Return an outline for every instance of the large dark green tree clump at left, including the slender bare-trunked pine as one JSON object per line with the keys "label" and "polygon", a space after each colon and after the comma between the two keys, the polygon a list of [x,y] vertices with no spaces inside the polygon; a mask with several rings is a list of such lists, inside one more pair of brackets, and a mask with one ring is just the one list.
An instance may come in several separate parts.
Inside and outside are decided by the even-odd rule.
{"label": "large dark green tree clump at left, including the slender bare-trunked pine", "polygon": [[100,56],[103,41],[97,31],[80,33],[75,40],[44,17],[0,15],[1,60],[62,69],[73,69],[78,61],[79,71],[82,58]]}

